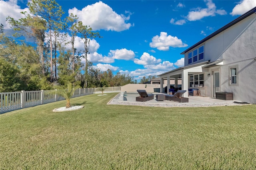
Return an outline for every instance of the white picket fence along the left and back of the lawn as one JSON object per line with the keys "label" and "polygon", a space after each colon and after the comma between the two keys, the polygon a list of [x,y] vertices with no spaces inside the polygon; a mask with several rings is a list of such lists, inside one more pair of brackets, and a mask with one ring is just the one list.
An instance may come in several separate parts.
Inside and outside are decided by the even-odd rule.
{"label": "white picket fence along the left and back of the lawn", "polygon": [[[121,92],[121,87],[104,87],[104,93]],[[102,88],[76,89],[73,97],[101,94]],[[0,93],[0,114],[26,107],[65,100],[54,93],[54,90],[18,91]]]}

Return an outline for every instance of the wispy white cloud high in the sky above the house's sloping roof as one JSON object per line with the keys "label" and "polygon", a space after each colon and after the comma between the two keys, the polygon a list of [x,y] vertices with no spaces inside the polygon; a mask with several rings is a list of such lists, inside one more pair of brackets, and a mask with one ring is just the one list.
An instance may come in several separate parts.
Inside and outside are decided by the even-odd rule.
{"label": "wispy white cloud high in the sky above the house's sloping roof", "polygon": [[215,16],[216,14],[226,15],[225,10],[216,10],[216,6],[212,0],[205,0],[205,2],[207,2],[207,8],[196,8],[195,10],[188,12],[187,19],[189,21],[200,20],[207,16]]}

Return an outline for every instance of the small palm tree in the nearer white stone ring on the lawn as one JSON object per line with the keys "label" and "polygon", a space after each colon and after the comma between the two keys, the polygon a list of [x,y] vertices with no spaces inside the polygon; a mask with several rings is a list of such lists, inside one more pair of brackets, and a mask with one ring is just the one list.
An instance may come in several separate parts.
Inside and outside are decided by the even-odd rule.
{"label": "small palm tree in the nearer white stone ring on the lawn", "polygon": [[68,83],[64,86],[58,86],[57,88],[58,89],[56,93],[66,99],[66,108],[70,108],[71,107],[70,99],[77,88],[73,88],[72,83]]}

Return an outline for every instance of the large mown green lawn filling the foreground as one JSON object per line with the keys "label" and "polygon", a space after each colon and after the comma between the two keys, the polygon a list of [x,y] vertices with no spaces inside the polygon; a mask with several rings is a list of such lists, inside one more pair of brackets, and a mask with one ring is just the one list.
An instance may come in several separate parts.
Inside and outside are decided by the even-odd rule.
{"label": "large mown green lawn filling the foreground", "polygon": [[256,168],[256,105],[106,105],[116,94],[0,115],[0,169]]}

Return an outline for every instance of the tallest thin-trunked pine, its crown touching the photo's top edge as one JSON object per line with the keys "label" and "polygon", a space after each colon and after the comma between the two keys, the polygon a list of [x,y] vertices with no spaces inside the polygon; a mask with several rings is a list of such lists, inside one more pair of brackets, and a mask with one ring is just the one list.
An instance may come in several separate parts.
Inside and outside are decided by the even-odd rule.
{"label": "tallest thin-trunked pine, its crown touching the photo's top edge", "polygon": [[32,0],[28,2],[29,10],[35,16],[40,16],[46,21],[50,38],[50,81],[53,81],[52,67],[52,30],[57,30],[62,24],[61,17],[64,14],[62,7],[55,0]]}

